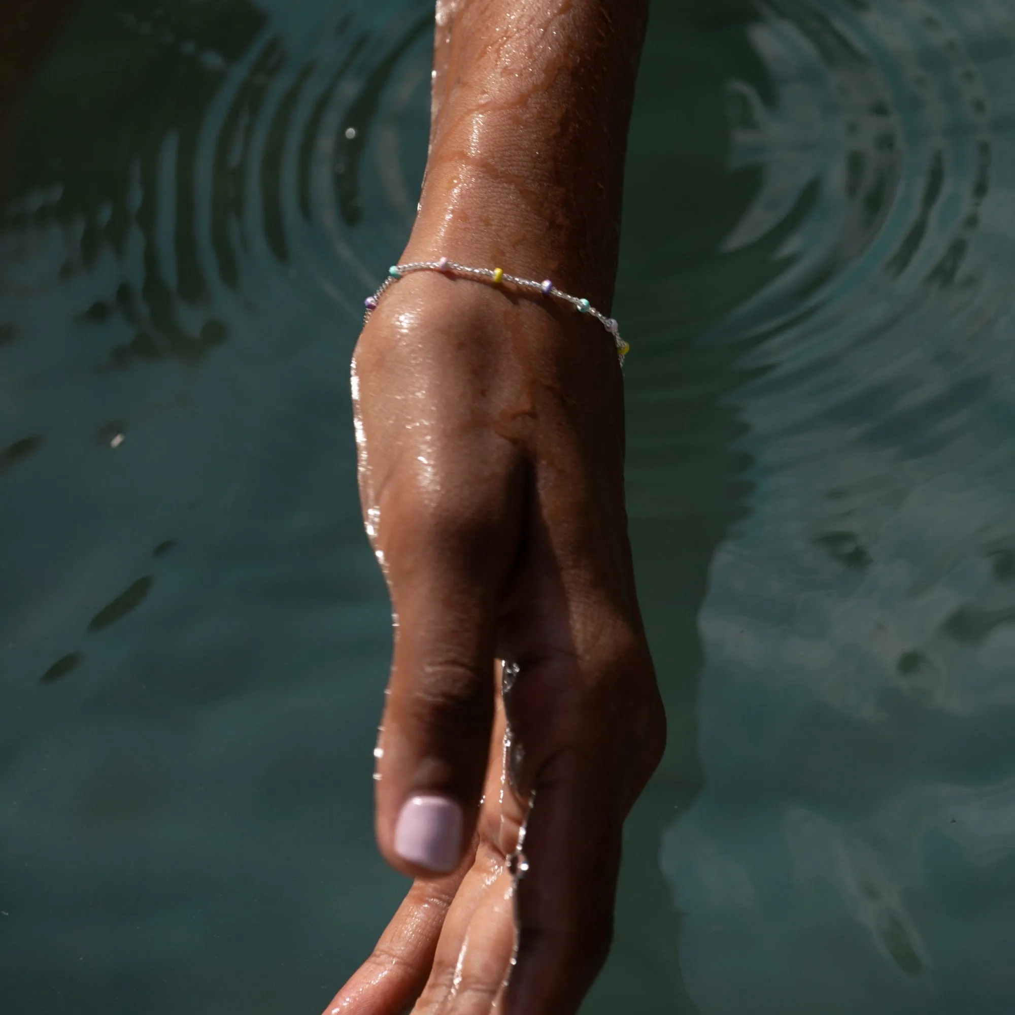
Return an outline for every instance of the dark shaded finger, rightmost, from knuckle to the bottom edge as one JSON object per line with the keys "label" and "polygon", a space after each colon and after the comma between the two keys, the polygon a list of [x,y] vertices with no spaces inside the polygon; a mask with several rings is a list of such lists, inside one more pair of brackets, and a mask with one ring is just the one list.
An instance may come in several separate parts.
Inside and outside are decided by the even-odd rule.
{"label": "dark shaded finger, rightmost, from knuckle to the bottom edge", "polygon": [[662,748],[645,722],[651,663],[636,638],[608,641],[595,662],[558,654],[523,667],[509,696],[513,769],[531,801],[511,1015],[573,1015],[609,952],[623,820]]}

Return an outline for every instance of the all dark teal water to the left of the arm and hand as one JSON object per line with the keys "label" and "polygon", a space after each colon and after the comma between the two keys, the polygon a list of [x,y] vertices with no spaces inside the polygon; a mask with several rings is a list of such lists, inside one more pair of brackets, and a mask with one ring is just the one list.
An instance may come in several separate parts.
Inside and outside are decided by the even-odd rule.
{"label": "all dark teal water to the left of the arm and hand", "polygon": [[320,1010],[401,891],[348,368],[432,5],[17,6],[52,38],[0,109],[4,1006]]}

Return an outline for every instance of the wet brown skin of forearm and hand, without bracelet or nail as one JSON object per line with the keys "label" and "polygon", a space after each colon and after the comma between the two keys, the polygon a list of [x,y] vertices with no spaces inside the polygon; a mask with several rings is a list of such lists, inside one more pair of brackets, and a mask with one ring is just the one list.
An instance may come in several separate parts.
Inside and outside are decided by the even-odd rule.
{"label": "wet brown skin of forearm and hand, without bracelet or nail", "polygon": [[[645,21],[634,0],[438,4],[402,260],[549,277],[608,312]],[[606,957],[622,823],[665,743],[612,339],[538,295],[413,274],[363,330],[353,395],[396,617],[377,833],[417,880],[327,1010],[567,1015]],[[463,814],[450,875],[397,848],[420,797]]]}

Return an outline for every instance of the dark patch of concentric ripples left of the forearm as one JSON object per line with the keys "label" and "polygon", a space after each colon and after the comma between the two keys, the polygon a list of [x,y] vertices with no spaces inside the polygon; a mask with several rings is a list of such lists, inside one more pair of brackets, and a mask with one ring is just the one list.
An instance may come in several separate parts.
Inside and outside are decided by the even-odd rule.
{"label": "dark patch of concentric ripples left of the forearm", "polygon": [[[109,350],[120,366],[201,358],[229,333],[229,292],[251,307],[265,275],[286,277],[279,266],[351,313],[415,211],[428,5],[336,4],[322,20],[301,4],[275,20],[247,0],[107,0],[82,17],[108,66],[82,81],[78,108],[46,110],[51,132],[15,137],[7,292],[70,282],[111,253],[129,264],[137,250],[140,276],[111,279],[79,312],[82,327],[116,317],[133,333]],[[44,73],[23,122],[62,85]],[[362,228],[364,217],[384,226]]]}

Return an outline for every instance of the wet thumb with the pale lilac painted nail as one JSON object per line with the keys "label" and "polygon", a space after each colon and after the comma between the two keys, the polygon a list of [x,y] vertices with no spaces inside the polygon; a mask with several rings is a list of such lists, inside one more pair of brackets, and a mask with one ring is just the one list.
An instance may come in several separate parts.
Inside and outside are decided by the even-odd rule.
{"label": "wet thumb with the pale lilac painted nail", "polygon": [[500,461],[481,484],[456,487],[456,467],[444,471],[442,503],[452,507],[424,509],[384,534],[398,626],[377,830],[388,861],[417,877],[458,865],[486,771],[497,605],[516,553],[524,486],[512,446],[496,438],[485,464],[491,455]]}

